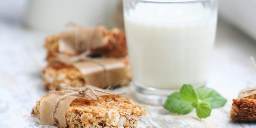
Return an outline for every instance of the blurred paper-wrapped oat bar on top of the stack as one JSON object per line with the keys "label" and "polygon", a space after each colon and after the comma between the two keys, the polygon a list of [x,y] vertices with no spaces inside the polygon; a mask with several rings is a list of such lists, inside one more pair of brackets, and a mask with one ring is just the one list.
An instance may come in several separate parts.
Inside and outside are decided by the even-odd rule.
{"label": "blurred paper-wrapped oat bar on top of the stack", "polygon": [[[102,40],[104,40],[104,43],[97,44],[98,42],[95,41],[94,44],[91,44],[90,50],[93,55],[100,55],[104,57],[125,57],[127,55],[127,47],[126,47],[126,40],[125,40],[125,34],[122,30],[119,30],[117,28],[113,28],[111,30],[107,30],[105,27],[96,27],[98,28],[97,32],[102,33]],[[91,28],[90,28],[91,29]],[[90,29],[80,28],[79,30],[74,31],[66,31],[59,34],[54,34],[46,37],[44,47],[47,49],[47,57],[46,59],[48,61],[54,60],[54,57],[60,53],[59,51],[59,41],[66,40],[68,42],[71,42],[72,44],[75,44],[75,34],[78,33],[77,37],[79,40],[79,43],[87,45],[87,42],[93,42],[88,41],[87,38],[90,38],[89,32]],[[92,30],[93,31],[93,30]],[[84,51],[81,51],[84,52]],[[78,55],[77,51],[65,51],[62,54],[66,55]]]}

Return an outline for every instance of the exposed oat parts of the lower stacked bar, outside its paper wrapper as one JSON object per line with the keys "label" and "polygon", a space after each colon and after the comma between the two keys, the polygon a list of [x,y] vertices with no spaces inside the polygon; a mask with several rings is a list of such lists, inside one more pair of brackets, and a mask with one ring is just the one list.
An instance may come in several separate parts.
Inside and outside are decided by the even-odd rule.
{"label": "exposed oat parts of the lower stacked bar, outside its paper wrapper", "polygon": [[[93,86],[98,86],[99,88],[108,88],[108,87],[124,86],[127,83],[129,83],[131,81],[129,62],[127,59],[124,59],[123,61],[126,67],[123,69],[124,77],[122,78],[116,77],[117,80],[120,79],[118,80],[119,82],[108,83],[102,86],[99,86],[99,85],[93,85]],[[81,85],[87,84],[81,72],[77,70],[74,66],[58,63],[58,62],[51,63],[42,70],[42,81],[43,81],[44,88],[47,90],[53,90],[53,89],[60,90],[61,88],[59,85],[61,83],[65,83],[73,87],[81,87]]]}

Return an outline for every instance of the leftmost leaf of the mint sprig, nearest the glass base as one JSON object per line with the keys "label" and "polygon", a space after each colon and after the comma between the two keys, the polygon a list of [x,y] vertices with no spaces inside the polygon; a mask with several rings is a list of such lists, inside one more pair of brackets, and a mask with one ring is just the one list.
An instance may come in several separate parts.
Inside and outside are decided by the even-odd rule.
{"label": "leftmost leaf of the mint sprig, nearest the glass base", "polygon": [[168,96],[164,108],[170,112],[182,115],[188,114],[193,110],[191,103],[185,102],[180,98],[179,92],[172,93]]}

